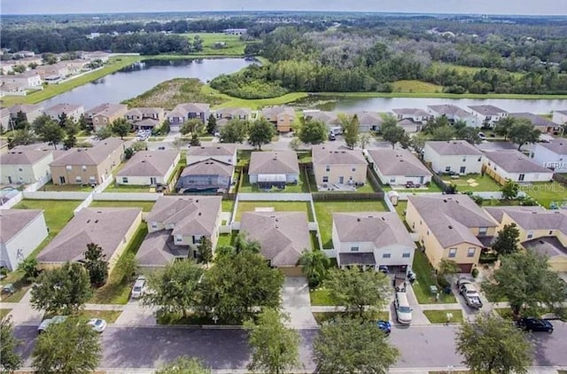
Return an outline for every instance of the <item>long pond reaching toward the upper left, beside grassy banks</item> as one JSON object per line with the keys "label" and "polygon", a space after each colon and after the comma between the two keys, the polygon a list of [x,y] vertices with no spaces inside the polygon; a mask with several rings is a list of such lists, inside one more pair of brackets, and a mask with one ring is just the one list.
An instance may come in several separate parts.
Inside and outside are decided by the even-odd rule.
{"label": "long pond reaching toward the upper left, beside grassy banks", "polygon": [[85,110],[102,103],[120,103],[150,90],[160,82],[174,78],[198,78],[210,81],[220,74],[230,74],[253,64],[244,58],[205,58],[145,60],[128,66],[97,81],[64,92],[43,101],[45,108],[60,103],[81,104]]}

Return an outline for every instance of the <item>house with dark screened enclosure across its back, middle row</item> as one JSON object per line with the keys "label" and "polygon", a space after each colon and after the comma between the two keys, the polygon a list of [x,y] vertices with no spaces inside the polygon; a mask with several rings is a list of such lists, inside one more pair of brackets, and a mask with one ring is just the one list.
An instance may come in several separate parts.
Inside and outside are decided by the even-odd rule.
{"label": "house with dark screened enclosure across its back, middle row", "polygon": [[214,159],[194,162],[183,168],[175,184],[177,193],[224,193],[230,189],[234,165]]}

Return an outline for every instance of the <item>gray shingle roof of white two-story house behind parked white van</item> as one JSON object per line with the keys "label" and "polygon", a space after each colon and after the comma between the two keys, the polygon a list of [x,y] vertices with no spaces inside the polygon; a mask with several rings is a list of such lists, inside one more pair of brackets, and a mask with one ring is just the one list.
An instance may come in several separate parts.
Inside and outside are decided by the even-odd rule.
{"label": "gray shingle roof of white two-story house behind parked white van", "polygon": [[414,247],[408,230],[395,212],[333,213],[333,223],[341,242],[372,242],[376,248]]}

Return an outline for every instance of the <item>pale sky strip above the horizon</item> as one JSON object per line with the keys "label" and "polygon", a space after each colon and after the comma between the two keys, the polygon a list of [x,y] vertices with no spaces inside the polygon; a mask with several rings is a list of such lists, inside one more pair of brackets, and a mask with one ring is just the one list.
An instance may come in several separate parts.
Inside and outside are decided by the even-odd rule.
{"label": "pale sky strip above the horizon", "polygon": [[240,10],[565,15],[567,0],[0,0],[2,14]]}

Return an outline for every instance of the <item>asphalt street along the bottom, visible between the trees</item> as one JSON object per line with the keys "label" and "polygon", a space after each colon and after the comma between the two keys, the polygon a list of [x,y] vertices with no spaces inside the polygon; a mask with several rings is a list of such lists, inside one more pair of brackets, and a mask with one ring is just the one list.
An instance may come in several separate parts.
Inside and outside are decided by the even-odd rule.
{"label": "asphalt street along the bottom, visible between the trees", "polygon": [[[554,322],[552,334],[530,334],[534,343],[534,366],[567,366],[567,323]],[[462,366],[454,352],[455,326],[394,326],[390,339],[400,348],[396,367],[427,368]],[[311,346],[316,330],[301,330],[300,359],[312,370]],[[24,340],[20,352],[30,365],[37,337],[35,326],[15,327]],[[180,355],[198,356],[214,369],[245,369],[250,350],[242,330],[201,330],[181,327],[108,327],[102,334],[102,368],[151,368]]]}

